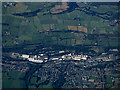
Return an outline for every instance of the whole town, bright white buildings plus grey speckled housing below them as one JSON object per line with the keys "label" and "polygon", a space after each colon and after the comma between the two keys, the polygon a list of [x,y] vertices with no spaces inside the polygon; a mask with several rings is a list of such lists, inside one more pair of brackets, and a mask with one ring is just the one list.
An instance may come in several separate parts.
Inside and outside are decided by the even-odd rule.
{"label": "whole town, bright white buildings plus grey speckled housing below them", "polygon": [[[117,50],[115,51],[117,52]],[[17,58],[17,60],[3,61],[3,69],[8,73],[17,71],[26,73],[26,75],[27,72],[35,70],[31,76],[31,84],[39,80],[40,82],[52,82],[56,87],[59,81],[63,88],[104,88],[113,85],[117,87],[118,56],[102,53],[98,57],[93,57],[86,54],[75,54],[69,50],[49,52],[51,52],[51,56],[47,56],[47,52],[40,52],[38,55],[12,53],[11,57]],[[32,68],[30,68],[31,66]],[[38,69],[35,69],[37,67]],[[59,77],[63,77],[64,82]]]}

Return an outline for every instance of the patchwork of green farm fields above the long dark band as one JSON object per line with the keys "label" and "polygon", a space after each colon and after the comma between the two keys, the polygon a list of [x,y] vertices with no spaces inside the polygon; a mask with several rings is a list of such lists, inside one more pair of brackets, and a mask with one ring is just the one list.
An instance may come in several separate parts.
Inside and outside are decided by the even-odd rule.
{"label": "patchwork of green farm fields above the long dark band", "polygon": [[[84,35],[87,34],[114,34],[118,32],[118,25],[109,26],[109,20],[102,19],[97,16],[88,15],[83,11],[74,10],[72,12],[63,13],[63,14],[46,14],[49,13],[49,9],[53,8],[54,5],[60,3],[16,3],[16,6],[10,6],[5,8],[3,3],[3,23],[8,25],[3,25],[3,47],[15,46],[20,44],[27,43],[41,43],[41,44],[50,44],[50,45],[94,45],[95,40],[83,40]],[[77,3],[80,7],[90,7],[90,10],[106,13],[102,17],[110,16],[112,17],[111,12],[114,14],[117,12],[117,6],[115,5],[99,5],[94,6],[90,4]],[[24,17],[24,16],[14,16],[13,13],[24,13],[24,12],[33,12],[38,9],[42,11],[37,13],[37,16]],[[88,12],[88,11],[87,11]],[[74,20],[79,18],[79,20]],[[76,34],[67,32],[51,32],[50,28],[54,31],[67,31],[68,26],[83,26],[87,28],[88,32]],[[49,31],[49,32],[46,32]],[[42,32],[42,33],[41,33]],[[108,36],[109,37],[109,36]],[[60,40],[62,38],[62,40]],[[66,38],[66,39],[63,39]],[[68,38],[68,39],[67,39]],[[76,39],[76,43],[75,40]],[[105,38],[104,38],[105,39]],[[106,39],[105,39],[106,40]],[[98,41],[98,40],[97,40]],[[107,42],[106,42],[107,41]],[[117,46],[115,39],[109,39],[105,42],[98,43],[99,45],[104,46]],[[109,42],[109,44],[108,44]],[[17,44],[16,44],[17,43]],[[67,44],[66,44],[67,43]]]}

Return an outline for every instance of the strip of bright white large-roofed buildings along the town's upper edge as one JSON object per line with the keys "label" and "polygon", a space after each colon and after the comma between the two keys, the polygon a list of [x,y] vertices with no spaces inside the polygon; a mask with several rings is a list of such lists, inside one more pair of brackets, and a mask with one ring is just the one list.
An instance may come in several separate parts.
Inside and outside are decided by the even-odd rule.
{"label": "strip of bright white large-roofed buildings along the town's upper edge", "polygon": [[[118,52],[117,49],[110,49],[110,51]],[[51,52],[51,53],[50,53]],[[48,52],[47,52],[48,53]],[[50,55],[47,55],[46,53],[40,52],[38,55],[27,55],[27,54],[19,54],[19,53],[12,53],[12,58],[21,58],[23,60],[28,60],[30,62],[36,62],[36,63],[43,63],[47,61],[55,61],[55,60],[88,60],[91,61],[112,61],[114,59],[118,59],[118,55],[114,54],[107,54],[102,53],[100,56],[95,57],[91,55],[86,54],[75,54],[74,52],[70,52],[68,50],[64,51],[49,51]]]}

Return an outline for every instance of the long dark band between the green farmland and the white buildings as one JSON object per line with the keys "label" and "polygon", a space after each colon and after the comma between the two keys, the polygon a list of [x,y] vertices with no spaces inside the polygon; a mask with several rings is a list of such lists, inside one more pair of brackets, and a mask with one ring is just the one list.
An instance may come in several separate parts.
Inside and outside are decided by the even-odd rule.
{"label": "long dark band between the green farmland and the white buildings", "polygon": [[[27,48],[27,46],[35,46],[35,49],[30,49],[27,50],[24,48]],[[106,47],[106,46],[101,46],[101,45],[76,45],[76,46],[64,46],[64,45],[40,45],[38,44],[30,44],[30,45],[19,45],[19,46],[14,46],[14,47],[6,47],[3,48],[3,52],[18,52],[18,53],[24,53],[24,54],[29,54],[30,52],[32,52],[31,54],[38,54],[39,53],[39,49],[41,48],[49,48],[52,47],[52,50],[54,51],[60,51],[60,50],[75,50],[75,52],[83,52],[83,53],[87,53],[90,52],[90,48],[96,46],[96,47],[102,47],[104,49],[108,48],[116,48],[116,47]],[[49,49],[47,49],[46,51],[49,51]],[[106,50],[105,50],[106,51]],[[95,54],[95,53],[94,53]]]}

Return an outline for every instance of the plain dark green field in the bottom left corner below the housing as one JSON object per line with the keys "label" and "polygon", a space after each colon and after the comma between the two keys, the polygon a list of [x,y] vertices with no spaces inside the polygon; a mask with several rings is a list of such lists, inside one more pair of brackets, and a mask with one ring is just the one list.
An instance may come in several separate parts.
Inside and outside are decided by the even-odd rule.
{"label": "plain dark green field in the bottom left corner below the housing", "polygon": [[2,87],[3,88],[25,88],[25,82],[24,80],[21,80],[21,78],[23,78],[24,75],[25,73],[17,72],[17,71],[3,72]]}

